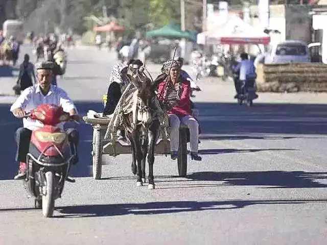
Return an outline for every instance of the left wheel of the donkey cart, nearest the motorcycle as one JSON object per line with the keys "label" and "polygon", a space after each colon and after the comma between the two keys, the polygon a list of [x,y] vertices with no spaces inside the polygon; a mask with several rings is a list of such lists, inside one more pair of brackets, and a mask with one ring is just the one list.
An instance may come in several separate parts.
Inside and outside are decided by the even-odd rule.
{"label": "left wheel of the donkey cart, nearest the motorcycle", "polygon": [[102,171],[102,142],[101,142],[101,130],[95,128],[93,130],[93,151],[92,151],[92,172],[95,180],[101,179]]}

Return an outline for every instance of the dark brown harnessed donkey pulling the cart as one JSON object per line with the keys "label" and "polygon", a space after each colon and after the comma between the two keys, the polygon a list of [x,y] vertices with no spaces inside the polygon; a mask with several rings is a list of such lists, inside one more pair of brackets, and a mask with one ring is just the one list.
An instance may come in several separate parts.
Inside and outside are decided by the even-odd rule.
{"label": "dark brown harnessed donkey pulling the cart", "polygon": [[[123,108],[123,125],[126,136],[131,142],[132,173],[137,174],[136,186],[143,186],[146,182],[145,163],[148,156],[149,176],[148,189],[155,189],[153,177],[154,148],[160,130],[158,113],[161,108],[156,104],[156,84],[144,75],[143,67],[129,70],[127,74],[134,85],[133,95],[125,101]],[[129,108],[128,108],[129,107]],[[131,110],[130,107],[134,107]],[[133,112],[134,111],[134,112]]]}

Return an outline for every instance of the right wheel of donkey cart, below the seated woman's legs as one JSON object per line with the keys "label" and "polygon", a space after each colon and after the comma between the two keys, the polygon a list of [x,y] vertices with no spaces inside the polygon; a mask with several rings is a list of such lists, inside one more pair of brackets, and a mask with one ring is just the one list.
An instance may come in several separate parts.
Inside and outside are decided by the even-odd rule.
{"label": "right wheel of donkey cart, below the seated woman's legs", "polygon": [[178,149],[178,175],[185,177],[188,171],[188,144],[186,142],[186,128],[179,130],[179,149]]}

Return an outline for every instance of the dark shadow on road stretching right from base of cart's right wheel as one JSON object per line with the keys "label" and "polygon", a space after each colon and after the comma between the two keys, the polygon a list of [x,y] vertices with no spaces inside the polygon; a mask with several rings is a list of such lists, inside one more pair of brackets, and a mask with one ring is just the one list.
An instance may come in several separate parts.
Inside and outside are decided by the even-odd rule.
{"label": "dark shadow on road stretching right from base of cart's right wheel", "polygon": [[[205,171],[188,175],[196,181],[217,181],[234,186],[263,186],[260,188],[326,188],[319,183],[327,179],[327,172],[306,171],[246,171],[214,172]],[[327,183],[327,181],[324,181]]]}

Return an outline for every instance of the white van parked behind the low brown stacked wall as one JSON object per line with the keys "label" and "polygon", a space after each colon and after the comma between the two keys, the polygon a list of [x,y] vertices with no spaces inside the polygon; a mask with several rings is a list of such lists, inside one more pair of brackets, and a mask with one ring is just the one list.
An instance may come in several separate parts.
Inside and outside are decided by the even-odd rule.
{"label": "white van parked behind the low brown stacked wall", "polygon": [[299,40],[286,40],[268,48],[265,64],[310,62],[310,52],[306,43]]}

